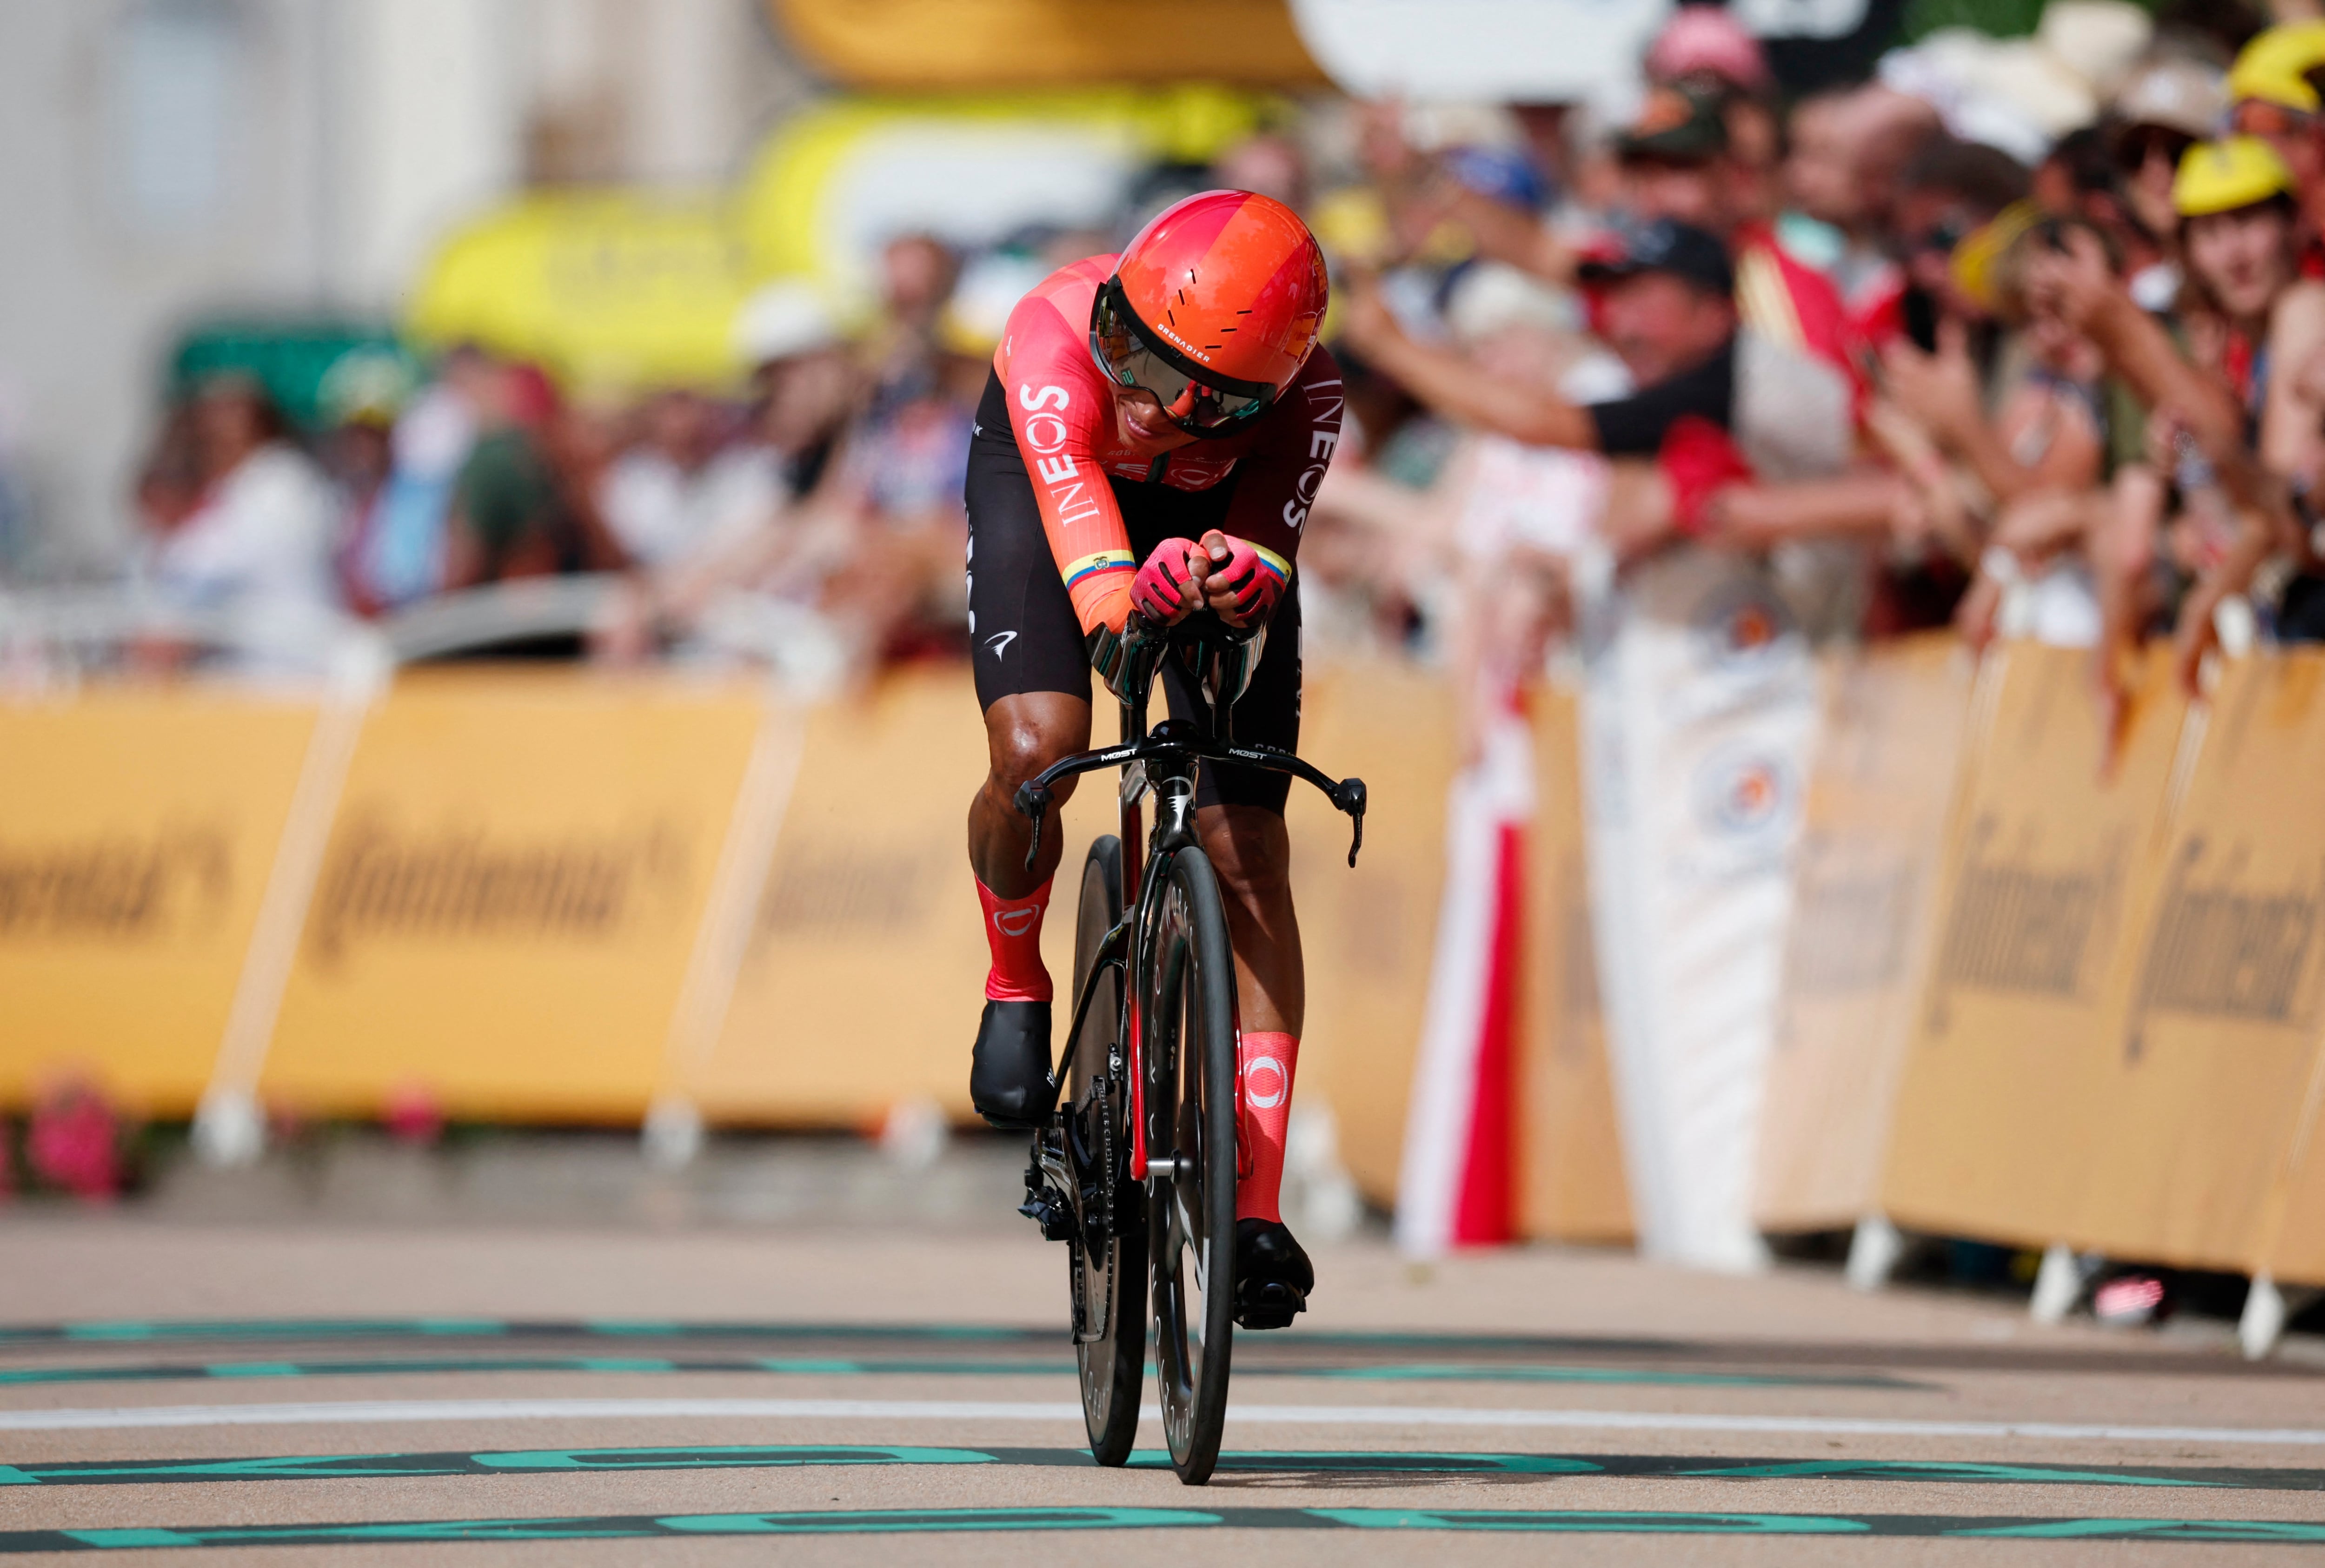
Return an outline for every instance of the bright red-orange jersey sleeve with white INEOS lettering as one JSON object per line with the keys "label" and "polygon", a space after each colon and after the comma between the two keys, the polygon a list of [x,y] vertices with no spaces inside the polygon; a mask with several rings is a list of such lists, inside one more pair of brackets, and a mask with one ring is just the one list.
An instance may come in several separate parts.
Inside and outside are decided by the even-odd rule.
{"label": "bright red-orange jersey sleeve with white INEOS lettering", "polygon": [[[1090,365],[1088,325],[1065,318],[1056,286],[1072,290],[1074,283],[1086,283],[1072,274],[1097,262],[1104,262],[1095,272],[1102,281],[1111,260],[1107,256],[1065,267],[1025,295],[1009,314],[1002,348],[993,355],[1009,395],[1009,430],[1042,506],[1042,532],[1049,534],[1049,553],[1058,560],[1083,634],[1097,627],[1123,630],[1137,560],[1130,555],[1130,532],[1114,504],[1114,488],[1097,465],[1114,395]],[[1079,295],[1086,300],[1088,286]]]}

